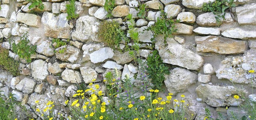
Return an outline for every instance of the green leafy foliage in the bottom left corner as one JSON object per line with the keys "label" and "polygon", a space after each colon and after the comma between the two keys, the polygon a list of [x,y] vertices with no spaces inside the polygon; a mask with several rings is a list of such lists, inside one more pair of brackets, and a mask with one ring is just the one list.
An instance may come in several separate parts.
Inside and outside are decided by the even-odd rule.
{"label": "green leafy foliage in the bottom left corner", "polygon": [[[0,93],[3,91],[0,91]],[[16,102],[12,94],[6,99],[5,96],[0,94],[0,120],[14,120],[16,112],[14,106]]]}

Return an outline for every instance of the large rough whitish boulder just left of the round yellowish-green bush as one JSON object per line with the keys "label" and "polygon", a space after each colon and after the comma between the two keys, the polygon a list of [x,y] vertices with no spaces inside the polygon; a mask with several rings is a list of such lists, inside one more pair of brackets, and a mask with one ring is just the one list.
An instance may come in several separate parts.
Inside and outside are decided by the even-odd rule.
{"label": "large rough whitish boulder just left of the round yellowish-green bush", "polygon": [[85,42],[87,40],[97,41],[94,26],[99,20],[93,16],[82,16],[76,20],[76,31],[72,32],[72,39]]}

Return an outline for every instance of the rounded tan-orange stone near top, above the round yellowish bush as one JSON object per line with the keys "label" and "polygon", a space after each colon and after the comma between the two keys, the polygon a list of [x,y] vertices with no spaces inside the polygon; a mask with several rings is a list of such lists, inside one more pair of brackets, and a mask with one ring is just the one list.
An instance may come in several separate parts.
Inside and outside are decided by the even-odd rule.
{"label": "rounded tan-orange stone near top, above the round yellowish bush", "polygon": [[116,6],[116,8],[112,10],[112,15],[114,17],[128,16],[129,13],[130,13],[130,6],[127,6],[127,5]]}

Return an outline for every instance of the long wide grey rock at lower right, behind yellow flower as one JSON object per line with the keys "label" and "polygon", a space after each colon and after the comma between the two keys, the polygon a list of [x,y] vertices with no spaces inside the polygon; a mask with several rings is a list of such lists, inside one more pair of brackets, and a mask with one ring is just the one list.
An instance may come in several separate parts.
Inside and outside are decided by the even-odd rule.
{"label": "long wide grey rock at lower right, behind yellow flower", "polygon": [[[241,92],[241,90],[240,90]],[[230,106],[236,102],[234,95],[237,94],[236,88],[233,86],[218,86],[218,85],[199,85],[196,88],[198,98],[201,98],[206,104],[213,107]],[[241,100],[237,100],[241,103]]]}

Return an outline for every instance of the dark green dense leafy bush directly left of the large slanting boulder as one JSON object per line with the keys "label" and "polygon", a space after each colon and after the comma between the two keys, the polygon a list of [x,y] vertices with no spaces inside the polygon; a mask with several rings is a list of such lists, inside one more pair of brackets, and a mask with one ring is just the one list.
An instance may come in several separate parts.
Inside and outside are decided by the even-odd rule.
{"label": "dark green dense leafy bush directly left of the large slanting boulder", "polygon": [[160,89],[165,80],[164,75],[169,74],[170,71],[166,67],[166,64],[163,63],[157,50],[154,50],[151,55],[148,55],[147,65],[147,73],[149,74],[149,78],[152,79],[151,82],[157,89]]}

